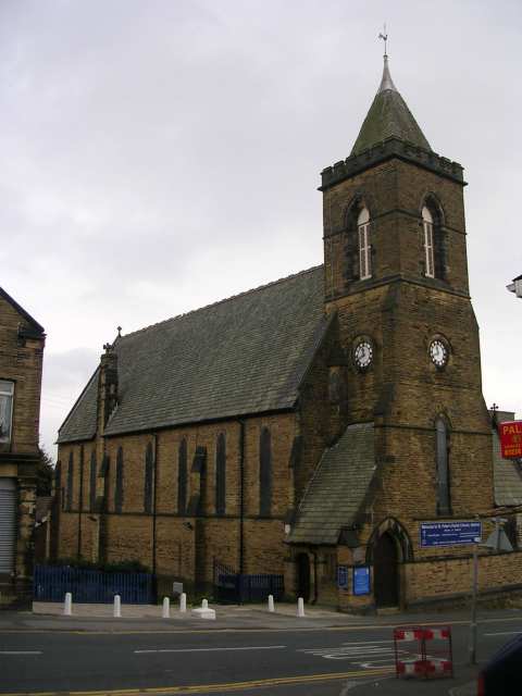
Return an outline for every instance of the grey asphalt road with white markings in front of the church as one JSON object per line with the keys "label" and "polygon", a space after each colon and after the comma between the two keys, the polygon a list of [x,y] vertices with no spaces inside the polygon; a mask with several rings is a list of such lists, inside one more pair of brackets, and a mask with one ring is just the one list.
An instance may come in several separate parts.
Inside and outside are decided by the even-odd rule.
{"label": "grey asphalt road with white markings in front of the church", "polygon": [[[482,623],[478,659],[485,661],[519,632],[522,620],[513,618]],[[448,694],[473,678],[473,670],[464,667],[468,635],[467,625],[453,624],[457,679],[425,684],[395,679],[391,627],[382,625],[0,632],[0,694],[144,688],[156,694]]]}

